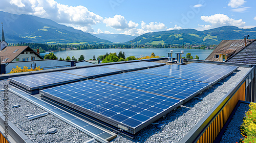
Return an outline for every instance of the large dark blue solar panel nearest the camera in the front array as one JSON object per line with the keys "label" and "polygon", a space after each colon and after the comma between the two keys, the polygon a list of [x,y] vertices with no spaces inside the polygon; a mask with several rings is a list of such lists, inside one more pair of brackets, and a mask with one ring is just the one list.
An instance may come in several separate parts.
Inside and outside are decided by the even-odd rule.
{"label": "large dark blue solar panel nearest the camera in the front array", "polygon": [[40,93],[132,134],[182,104],[182,100],[94,80],[52,87]]}

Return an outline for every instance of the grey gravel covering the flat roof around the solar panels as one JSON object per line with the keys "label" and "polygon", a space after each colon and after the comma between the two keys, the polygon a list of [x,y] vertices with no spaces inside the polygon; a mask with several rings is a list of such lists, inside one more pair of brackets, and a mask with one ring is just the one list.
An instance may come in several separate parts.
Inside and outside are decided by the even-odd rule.
{"label": "grey gravel covering the flat roof around the solar panels", "polygon": [[[112,142],[179,142],[241,80],[249,69],[239,67],[237,71],[199,94],[197,97],[202,97],[202,101],[193,98],[168,113],[165,118],[160,118],[157,122],[166,125],[162,130],[157,129],[155,125],[149,125],[136,133],[134,139],[118,135]],[[4,88],[4,85],[9,85],[7,80],[0,81],[1,89]],[[29,121],[25,117],[26,114],[37,114],[45,111],[15,94],[8,92],[8,96],[9,120],[30,137],[33,142],[85,142],[91,139],[90,136],[62,122],[53,115]],[[0,99],[3,99],[3,92],[0,92]],[[20,107],[11,108],[15,104],[20,104]],[[3,111],[2,104],[0,104],[0,111]],[[57,132],[46,135],[47,130],[52,127],[57,128]]]}

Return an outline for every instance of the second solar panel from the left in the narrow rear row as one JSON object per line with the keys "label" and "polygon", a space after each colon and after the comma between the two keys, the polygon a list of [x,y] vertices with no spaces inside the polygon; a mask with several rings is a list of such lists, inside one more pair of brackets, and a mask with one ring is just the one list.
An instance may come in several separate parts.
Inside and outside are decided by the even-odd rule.
{"label": "second solar panel from the left in the narrow rear row", "polygon": [[103,68],[100,66],[95,66],[95,67],[64,70],[61,72],[90,78],[90,77],[98,77],[103,75],[120,73],[121,71],[122,70],[119,70],[119,69]]}

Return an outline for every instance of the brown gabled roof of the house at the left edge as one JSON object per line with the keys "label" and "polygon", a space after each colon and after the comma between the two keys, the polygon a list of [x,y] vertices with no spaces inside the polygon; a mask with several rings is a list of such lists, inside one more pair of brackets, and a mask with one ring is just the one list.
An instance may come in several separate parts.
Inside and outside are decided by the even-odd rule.
{"label": "brown gabled roof of the house at the left edge", "polygon": [[25,50],[33,52],[37,57],[39,57],[40,59],[43,59],[36,52],[34,52],[29,46],[7,46],[5,47],[5,49],[0,51],[0,57],[2,58],[1,62],[9,63],[13,61],[19,54],[21,54]]}

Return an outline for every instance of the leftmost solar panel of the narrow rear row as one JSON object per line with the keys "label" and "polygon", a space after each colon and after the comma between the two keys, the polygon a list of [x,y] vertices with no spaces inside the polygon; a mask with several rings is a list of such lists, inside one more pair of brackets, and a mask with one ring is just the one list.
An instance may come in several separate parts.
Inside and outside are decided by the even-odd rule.
{"label": "leftmost solar panel of the narrow rear row", "polygon": [[29,76],[21,76],[9,78],[11,83],[21,86],[27,90],[36,90],[44,87],[49,87],[57,84],[79,81],[86,79],[82,76],[76,76],[66,73],[61,73],[59,71],[44,74],[35,74]]}

